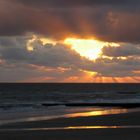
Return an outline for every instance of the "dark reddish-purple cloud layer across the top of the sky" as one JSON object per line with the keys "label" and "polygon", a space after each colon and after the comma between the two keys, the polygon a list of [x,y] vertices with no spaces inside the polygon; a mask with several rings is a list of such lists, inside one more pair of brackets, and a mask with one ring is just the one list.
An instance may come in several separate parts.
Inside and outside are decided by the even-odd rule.
{"label": "dark reddish-purple cloud layer across the top of the sky", "polygon": [[139,9],[139,0],[0,0],[0,35],[140,42]]}

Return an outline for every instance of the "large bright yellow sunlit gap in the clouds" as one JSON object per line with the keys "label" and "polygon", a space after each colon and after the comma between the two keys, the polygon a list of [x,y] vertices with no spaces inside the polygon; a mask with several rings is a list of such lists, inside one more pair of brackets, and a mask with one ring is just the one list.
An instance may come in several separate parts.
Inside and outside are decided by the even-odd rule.
{"label": "large bright yellow sunlit gap in the clouds", "polygon": [[102,48],[106,44],[94,39],[66,38],[65,44],[72,46],[76,52],[90,60],[96,60],[102,54]]}

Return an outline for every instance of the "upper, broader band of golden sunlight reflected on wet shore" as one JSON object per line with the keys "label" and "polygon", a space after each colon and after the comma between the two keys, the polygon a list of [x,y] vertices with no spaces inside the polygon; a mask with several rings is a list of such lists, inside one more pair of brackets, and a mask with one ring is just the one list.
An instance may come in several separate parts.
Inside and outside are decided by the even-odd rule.
{"label": "upper, broader band of golden sunlight reflected on wet shore", "polygon": [[139,108],[135,109],[123,109],[123,108],[111,108],[105,110],[94,110],[94,111],[85,111],[78,113],[70,113],[63,115],[53,115],[53,116],[34,116],[34,117],[25,117],[19,119],[11,119],[11,120],[1,120],[0,125],[11,124],[11,123],[20,123],[20,122],[35,122],[35,121],[45,121],[45,120],[54,120],[59,118],[76,118],[76,117],[91,117],[91,116],[102,116],[102,115],[115,115],[129,112],[137,112]]}

